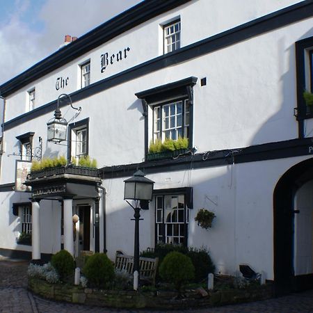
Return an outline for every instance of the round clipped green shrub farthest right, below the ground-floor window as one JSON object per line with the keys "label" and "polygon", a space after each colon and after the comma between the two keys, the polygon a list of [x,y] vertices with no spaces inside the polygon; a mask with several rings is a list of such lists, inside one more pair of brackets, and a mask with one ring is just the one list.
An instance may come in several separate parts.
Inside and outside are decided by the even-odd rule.
{"label": "round clipped green shrub farthest right, below the ground-floor window", "polygon": [[182,285],[195,277],[195,267],[190,257],[180,252],[168,253],[160,265],[159,273],[161,278],[167,282],[172,282],[179,291]]}

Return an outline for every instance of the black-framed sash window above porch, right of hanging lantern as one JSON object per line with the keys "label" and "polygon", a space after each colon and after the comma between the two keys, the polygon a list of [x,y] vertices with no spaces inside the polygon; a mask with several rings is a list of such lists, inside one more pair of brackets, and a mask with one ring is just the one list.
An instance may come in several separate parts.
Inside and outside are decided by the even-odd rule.
{"label": "black-framed sash window above porch, right of hanging lantern", "polygon": [[88,155],[88,119],[70,125],[70,153],[76,161]]}

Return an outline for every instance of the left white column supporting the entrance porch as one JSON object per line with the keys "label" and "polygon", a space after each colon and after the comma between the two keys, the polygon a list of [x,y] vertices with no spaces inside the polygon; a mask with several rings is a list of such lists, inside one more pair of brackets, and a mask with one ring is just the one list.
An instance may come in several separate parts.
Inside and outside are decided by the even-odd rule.
{"label": "left white column supporting the entrance porch", "polygon": [[32,246],[32,259],[41,259],[40,254],[40,225],[39,225],[39,201],[33,199],[31,201],[31,246]]}

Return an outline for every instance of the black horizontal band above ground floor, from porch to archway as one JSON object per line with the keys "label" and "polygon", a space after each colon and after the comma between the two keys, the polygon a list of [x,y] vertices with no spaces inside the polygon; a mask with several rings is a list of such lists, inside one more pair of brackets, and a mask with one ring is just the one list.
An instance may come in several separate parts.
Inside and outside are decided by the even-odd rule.
{"label": "black horizontal band above ground floor, from porch to archway", "polygon": [[211,168],[226,166],[231,163],[249,163],[255,161],[266,161],[312,155],[309,147],[313,147],[311,138],[292,139],[277,143],[264,143],[230,150],[216,150],[202,154],[189,154],[178,159],[166,159],[159,161],[145,161],[119,166],[108,166],[100,169],[102,179],[113,179],[117,177],[131,177],[134,171],[140,169],[145,175],[172,172],[175,170]]}

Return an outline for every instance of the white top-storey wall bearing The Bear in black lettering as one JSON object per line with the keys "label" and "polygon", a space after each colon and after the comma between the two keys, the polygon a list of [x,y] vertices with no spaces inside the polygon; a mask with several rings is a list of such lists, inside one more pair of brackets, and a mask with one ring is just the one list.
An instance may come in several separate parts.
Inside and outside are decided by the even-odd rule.
{"label": "white top-storey wall bearing The Bear in black lettering", "polygon": [[[28,86],[10,95],[7,97],[6,121],[26,112],[27,91],[32,88],[35,88],[35,107],[54,101],[61,93],[68,94],[79,90],[79,65],[85,61],[90,60],[90,81],[95,83],[163,54],[161,25],[166,24],[174,17],[181,18],[182,47],[185,47],[298,2],[300,1],[227,0],[222,3],[218,0],[198,0],[185,3],[183,6],[154,17],[134,27],[134,29],[118,35],[118,37],[105,42],[88,54],[54,70],[45,77],[33,81]],[[195,18],[197,23],[195,23]],[[138,40],[138,38],[141,38],[141,40]],[[126,51],[127,56],[125,58],[125,49],[127,48],[129,48],[129,51]],[[66,47],[63,49],[66,49]],[[122,60],[118,62],[116,61],[116,55],[119,51],[122,51]],[[101,72],[101,55],[106,53],[109,56],[110,64],[104,72]],[[112,54],[115,54],[113,64],[111,64],[110,58]],[[58,78],[66,80],[67,85],[56,90]]]}

